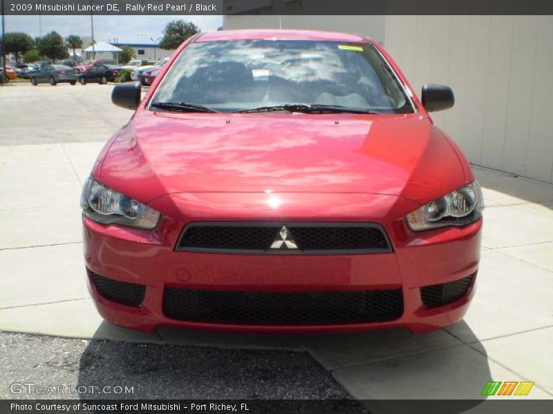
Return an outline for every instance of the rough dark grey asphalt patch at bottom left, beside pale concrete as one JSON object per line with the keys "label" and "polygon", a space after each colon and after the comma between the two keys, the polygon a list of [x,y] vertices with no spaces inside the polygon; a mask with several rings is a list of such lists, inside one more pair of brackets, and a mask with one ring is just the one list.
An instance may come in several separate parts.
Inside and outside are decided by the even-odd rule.
{"label": "rough dark grey asphalt patch at bottom left, beside pale concrete", "polygon": [[330,399],[364,412],[300,352],[0,333],[0,366],[2,399]]}

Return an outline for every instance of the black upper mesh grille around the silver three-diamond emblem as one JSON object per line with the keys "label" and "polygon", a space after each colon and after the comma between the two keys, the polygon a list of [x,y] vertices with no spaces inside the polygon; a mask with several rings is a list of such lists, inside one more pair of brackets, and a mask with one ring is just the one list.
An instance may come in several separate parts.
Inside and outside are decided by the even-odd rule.
{"label": "black upper mesh grille around the silver three-diamond emblem", "polygon": [[[283,241],[281,229],[286,226],[286,240],[294,242],[272,248]],[[236,253],[306,253],[345,254],[391,251],[384,230],[365,223],[282,223],[282,222],[206,222],[185,228],[177,250]]]}

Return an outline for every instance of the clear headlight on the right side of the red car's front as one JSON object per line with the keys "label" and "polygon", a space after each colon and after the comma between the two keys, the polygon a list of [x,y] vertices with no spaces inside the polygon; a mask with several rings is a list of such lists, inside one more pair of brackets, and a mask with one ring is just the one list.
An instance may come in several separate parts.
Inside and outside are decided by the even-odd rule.
{"label": "clear headlight on the right side of the red car's front", "polygon": [[484,198],[477,181],[432,201],[407,215],[411,230],[465,226],[482,216]]}

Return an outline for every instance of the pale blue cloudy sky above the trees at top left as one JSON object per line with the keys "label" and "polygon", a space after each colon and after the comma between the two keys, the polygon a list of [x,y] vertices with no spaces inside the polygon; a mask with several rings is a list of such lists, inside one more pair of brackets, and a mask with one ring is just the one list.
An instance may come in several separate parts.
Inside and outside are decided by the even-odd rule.
{"label": "pale blue cloudy sky above the trees at top left", "polygon": [[[26,32],[36,37],[39,35],[39,19],[43,36],[52,30],[63,37],[68,34],[91,35],[91,18],[87,15],[6,16],[6,32]],[[113,41],[118,38],[120,42],[151,43],[150,38],[160,37],[169,21],[180,19],[192,21],[204,31],[217,30],[223,26],[223,16],[94,16],[94,39]]]}

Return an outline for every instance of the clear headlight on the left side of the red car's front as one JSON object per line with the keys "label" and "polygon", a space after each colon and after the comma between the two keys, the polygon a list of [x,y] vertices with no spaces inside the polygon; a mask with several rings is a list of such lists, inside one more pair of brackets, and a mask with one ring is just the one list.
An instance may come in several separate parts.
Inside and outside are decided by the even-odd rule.
{"label": "clear headlight on the left side of the red car's front", "polygon": [[158,211],[90,177],[84,183],[81,207],[86,217],[102,224],[122,224],[151,230],[160,219]]}

